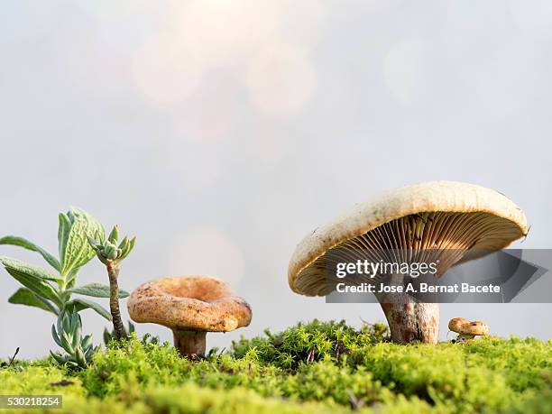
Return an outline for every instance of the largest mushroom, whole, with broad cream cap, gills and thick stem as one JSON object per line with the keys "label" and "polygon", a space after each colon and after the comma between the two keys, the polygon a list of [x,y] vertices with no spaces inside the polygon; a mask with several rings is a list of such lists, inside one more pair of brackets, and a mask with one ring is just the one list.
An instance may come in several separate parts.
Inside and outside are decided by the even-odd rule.
{"label": "largest mushroom, whole, with broad cream cap, gills and thick stem", "polygon": [[[290,260],[291,290],[323,296],[335,289],[328,283],[331,253],[431,249],[439,262],[437,277],[459,262],[501,250],[527,235],[520,207],[492,189],[462,182],[435,181],[391,191],[359,204],[329,225],[318,227],[297,246]],[[421,254],[421,253],[420,253]],[[399,281],[400,282],[400,281]],[[436,344],[437,303],[413,302],[407,294],[376,294],[396,343]]]}

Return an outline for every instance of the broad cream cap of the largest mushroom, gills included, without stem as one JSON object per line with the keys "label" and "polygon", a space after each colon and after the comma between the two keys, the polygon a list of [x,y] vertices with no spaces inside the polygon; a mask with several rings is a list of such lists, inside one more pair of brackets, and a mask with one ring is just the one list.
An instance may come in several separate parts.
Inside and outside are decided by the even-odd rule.
{"label": "broad cream cap of the largest mushroom, gills included, without stem", "polygon": [[[427,231],[422,226],[420,237],[414,238],[419,220]],[[432,224],[426,225],[428,221]],[[420,183],[357,204],[317,227],[295,249],[288,281],[296,293],[327,294],[325,255],[341,247],[455,249],[459,257],[451,256],[452,262],[443,264],[447,269],[501,250],[528,231],[523,211],[498,191],[463,182]]]}

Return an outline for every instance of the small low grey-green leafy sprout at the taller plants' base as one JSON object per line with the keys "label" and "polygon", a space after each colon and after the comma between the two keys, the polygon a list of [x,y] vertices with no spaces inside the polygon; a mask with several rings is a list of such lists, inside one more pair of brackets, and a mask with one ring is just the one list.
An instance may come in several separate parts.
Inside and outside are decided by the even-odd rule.
{"label": "small low grey-green leafy sprout at the taller plants' base", "polygon": [[92,336],[82,337],[82,321],[78,312],[65,312],[58,317],[56,325],[51,326],[51,336],[66,355],[50,351],[51,356],[60,364],[68,364],[71,368],[86,368],[92,360],[97,348],[92,345]]}

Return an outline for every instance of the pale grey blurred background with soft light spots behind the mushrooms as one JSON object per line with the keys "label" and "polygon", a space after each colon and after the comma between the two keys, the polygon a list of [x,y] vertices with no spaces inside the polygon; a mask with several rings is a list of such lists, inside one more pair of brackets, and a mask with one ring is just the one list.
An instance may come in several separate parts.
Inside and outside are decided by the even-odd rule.
{"label": "pale grey blurred background with soft light spots behind the mushrooms", "polygon": [[[303,235],[387,189],[498,189],[532,225],[522,246],[552,248],[549,1],[11,1],[0,62],[0,234],[56,252],[57,215],[75,205],[138,236],[126,290],[229,281],[253,323],[208,346],[314,317],[384,320],[379,305],[293,294],[287,268]],[[92,281],[106,281],[97,261],[80,275]],[[0,271],[0,357],[45,355],[54,317],[8,304],[17,288]],[[461,316],[547,339],[551,315],[443,305],[441,337]],[[83,318],[98,343],[106,321]]]}

